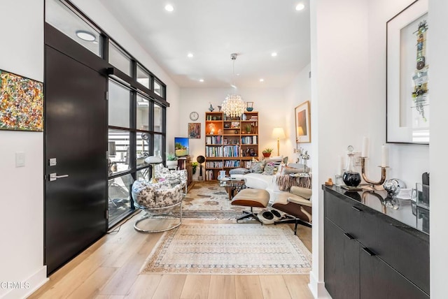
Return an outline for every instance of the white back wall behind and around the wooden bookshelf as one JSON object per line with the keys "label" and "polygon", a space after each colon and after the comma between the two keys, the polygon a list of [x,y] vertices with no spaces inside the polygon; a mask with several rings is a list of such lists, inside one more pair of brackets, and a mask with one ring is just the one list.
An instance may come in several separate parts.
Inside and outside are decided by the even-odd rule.
{"label": "white back wall behind and around the wooden bookshelf", "polygon": [[[181,89],[181,101],[179,110],[179,136],[188,136],[188,123],[190,120],[190,112],[199,113],[199,119],[196,122],[201,123],[201,138],[190,139],[190,155],[193,161],[197,156],[205,155],[205,112],[208,112],[210,103],[218,111],[218,105],[223,103],[225,96],[232,92],[231,89],[199,89],[199,88],[183,88]],[[277,144],[276,139],[271,138],[272,129],[276,126],[282,126],[286,136],[294,134],[294,124],[290,123],[291,117],[294,117],[293,110],[290,110],[290,104],[287,103],[283,89],[238,89],[237,94],[241,95],[246,102],[252,101],[253,111],[258,111],[258,135],[260,152],[265,147],[274,149],[273,156],[276,156]],[[294,122],[294,120],[293,120]],[[280,140],[280,154],[295,159],[293,154],[293,143],[289,138]],[[261,154],[261,153],[260,153]],[[193,177],[197,180],[198,172]]]}

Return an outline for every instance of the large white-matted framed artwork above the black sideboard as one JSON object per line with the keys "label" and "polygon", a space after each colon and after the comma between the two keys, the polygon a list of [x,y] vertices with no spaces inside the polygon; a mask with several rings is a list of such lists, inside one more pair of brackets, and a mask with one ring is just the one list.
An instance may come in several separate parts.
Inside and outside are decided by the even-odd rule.
{"label": "large white-matted framed artwork above the black sideboard", "polygon": [[[429,26],[428,26],[429,25]],[[386,142],[429,144],[428,0],[386,23]]]}

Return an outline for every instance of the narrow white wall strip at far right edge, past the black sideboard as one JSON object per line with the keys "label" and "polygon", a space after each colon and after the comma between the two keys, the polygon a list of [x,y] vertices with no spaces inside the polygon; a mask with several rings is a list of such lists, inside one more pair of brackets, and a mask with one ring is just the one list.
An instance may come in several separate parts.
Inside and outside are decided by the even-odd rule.
{"label": "narrow white wall strip at far right edge, past the black sideboard", "polygon": [[448,68],[448,1],[429,0],[431,43],[430,93],[430,293],[432,298],[447,297],[448,265],[447,227],[448,200],[447,142],[448,126],[447,68]]}

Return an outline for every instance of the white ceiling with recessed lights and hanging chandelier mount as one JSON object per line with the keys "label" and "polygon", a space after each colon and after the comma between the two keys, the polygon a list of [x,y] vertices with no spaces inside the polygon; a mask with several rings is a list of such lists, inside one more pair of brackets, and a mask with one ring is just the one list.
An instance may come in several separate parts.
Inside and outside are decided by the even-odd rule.
{"label": "white ceiling with recessed lights and hanging chandelier mount", "polygon": [[180,87],[282,88],[310,61],[309,0],[100,1]]}

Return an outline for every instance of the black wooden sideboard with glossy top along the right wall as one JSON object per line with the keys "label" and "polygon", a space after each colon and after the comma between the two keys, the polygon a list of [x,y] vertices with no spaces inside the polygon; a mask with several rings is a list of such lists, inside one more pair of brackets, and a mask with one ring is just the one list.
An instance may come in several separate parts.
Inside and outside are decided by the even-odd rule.
{"label": "black wooden sideboard with glossy top along the right wall", "polygon": [[412,225],[419,217],[411,203],[394,209],[384,205],[385,193],[322,188],[324,280],[332,298],[429,298],[429,234]]}

